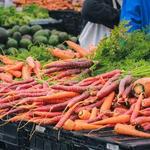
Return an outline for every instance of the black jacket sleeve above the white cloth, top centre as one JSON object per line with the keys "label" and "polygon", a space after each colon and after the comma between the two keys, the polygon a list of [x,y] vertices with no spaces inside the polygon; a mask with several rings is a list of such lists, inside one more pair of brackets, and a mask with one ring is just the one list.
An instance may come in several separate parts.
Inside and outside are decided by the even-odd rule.
{"label": "black jacket sleeve above the white cloth, top centre", "polygon": [[82,17],[86,21],[113,28],[119,24],[120,10],[114,9],[112,4],[106,3],[105,0],[85,0]]}

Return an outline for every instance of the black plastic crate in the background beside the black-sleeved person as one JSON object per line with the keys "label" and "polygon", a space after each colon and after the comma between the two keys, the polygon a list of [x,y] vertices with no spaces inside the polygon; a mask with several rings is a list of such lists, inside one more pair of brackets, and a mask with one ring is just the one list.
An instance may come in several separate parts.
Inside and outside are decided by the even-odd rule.
{"label": "black plastic crate in the background beside the black-sleeved person", "polygon": [[49,11],[49,16],[54,19],[61,19],[60,30],[72,35],[79,35],[83,28],[81,13],[72,10]]}

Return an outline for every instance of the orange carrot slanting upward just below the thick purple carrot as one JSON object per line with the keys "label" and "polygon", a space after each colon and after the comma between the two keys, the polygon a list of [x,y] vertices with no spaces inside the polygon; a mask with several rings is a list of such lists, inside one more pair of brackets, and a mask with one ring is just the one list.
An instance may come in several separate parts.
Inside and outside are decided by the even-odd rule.
{"label": "orange carrot slanting upward just below the thick purple carrot", "polygon": [[114,97],[115,97],[115,92],[112,92],[107,97],[104,98],[104,102],[100,108],[100,112],[105,112],[110,110]]}

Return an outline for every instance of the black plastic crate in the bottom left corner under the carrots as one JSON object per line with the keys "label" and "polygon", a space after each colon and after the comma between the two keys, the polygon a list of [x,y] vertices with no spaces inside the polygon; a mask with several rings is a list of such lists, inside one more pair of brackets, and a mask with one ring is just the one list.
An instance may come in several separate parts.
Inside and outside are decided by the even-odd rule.
{"label": "black plastic crate in the bottom left corner under the carrots", "polygon": [[1,145],[2,147],[4,145],[5,149],[22,150],[29,147],[28,132],[24,129],[17,131],[17,127],[18,124],[15,123],[8,123],[0,127],[0,142],[3,143]]}

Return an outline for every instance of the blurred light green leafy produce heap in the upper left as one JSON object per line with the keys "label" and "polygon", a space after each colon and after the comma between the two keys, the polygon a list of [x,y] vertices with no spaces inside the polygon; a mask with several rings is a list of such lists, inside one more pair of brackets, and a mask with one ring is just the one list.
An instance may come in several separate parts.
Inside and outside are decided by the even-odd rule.
{"label": "blurred light green leafy produce heap in the upper left", "polygon": [[[7,18],[7,19],[6,19]],[[0,25],[12,27],[14,25],[29,24],[34,19],[49,18],[48,11],[37,5],[27,5],[22,11],[17,11],[16,7],[0,7]]]}

